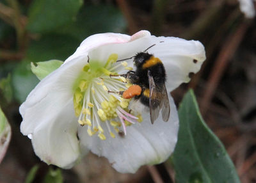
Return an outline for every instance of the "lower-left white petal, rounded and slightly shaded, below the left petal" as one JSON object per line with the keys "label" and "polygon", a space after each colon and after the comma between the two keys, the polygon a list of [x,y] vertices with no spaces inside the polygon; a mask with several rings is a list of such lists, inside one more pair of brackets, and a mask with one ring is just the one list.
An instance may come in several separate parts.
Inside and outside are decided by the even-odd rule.
{"label": "lower-left white petal, rounded and slightly shaded, below the left petal", "polygon": [[51,120],[40,123],[33,132],[32,144],[36,155],[47,164],[71,168],[79,158],[77,123],[73,101],[70,99],[63,111],[53,115]]}

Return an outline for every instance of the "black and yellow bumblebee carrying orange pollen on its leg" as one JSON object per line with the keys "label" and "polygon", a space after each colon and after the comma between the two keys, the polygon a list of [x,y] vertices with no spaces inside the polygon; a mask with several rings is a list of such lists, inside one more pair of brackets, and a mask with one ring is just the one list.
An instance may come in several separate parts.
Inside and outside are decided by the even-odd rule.
{"label": "black and yellow bumblebee carrying orange pollen on its leg", "polygon": [[124,77],[134,85],[122,93],[123,97],[125,99],[133,97],[149,107],[152,124],[158,118],[160,111],[164,122],[167,122],[170,118],[170,104],[165,86],[166,72],[162,61],[145,51],[139,52],[133,58],[136,70],[127,72]]}

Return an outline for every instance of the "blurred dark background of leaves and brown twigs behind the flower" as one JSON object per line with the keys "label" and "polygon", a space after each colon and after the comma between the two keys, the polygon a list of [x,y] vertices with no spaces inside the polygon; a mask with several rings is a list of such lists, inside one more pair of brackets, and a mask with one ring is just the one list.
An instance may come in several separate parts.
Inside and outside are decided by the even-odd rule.
{"label": "blurred dark background of leaves and brown twigs behind the flower", "polygon": [[143,166],[134,175],[117,173],[108,160],[93,154],[71,170],[47,166],[19,130],[19,105],[38,83],[31,62],[64,61],[95,33],[132,35],[141,29],[205,45],[202,69],[172,95],[179,106],[188,88],[195,90],[205,122],[225,145],[241,182],[256,182],[256,26],[251,4],[251,9],[243,6],[244,14],[237,0],[0,0],[0,106],[12,127],[0,182],[24,182],[29,171],[36,171],[33,182],[173,182],[168,161]]}

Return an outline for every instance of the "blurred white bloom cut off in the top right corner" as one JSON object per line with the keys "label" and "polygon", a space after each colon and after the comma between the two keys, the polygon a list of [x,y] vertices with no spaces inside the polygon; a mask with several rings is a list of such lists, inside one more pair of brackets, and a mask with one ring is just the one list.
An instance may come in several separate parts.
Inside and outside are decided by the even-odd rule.
{"label": "blurred white bloom cut off in the top right corner", "polygon": [[255,8],[253,1],[255,0],[239,0],[240,10],[248,19],[252,19],[253,17],[255,17]]}

